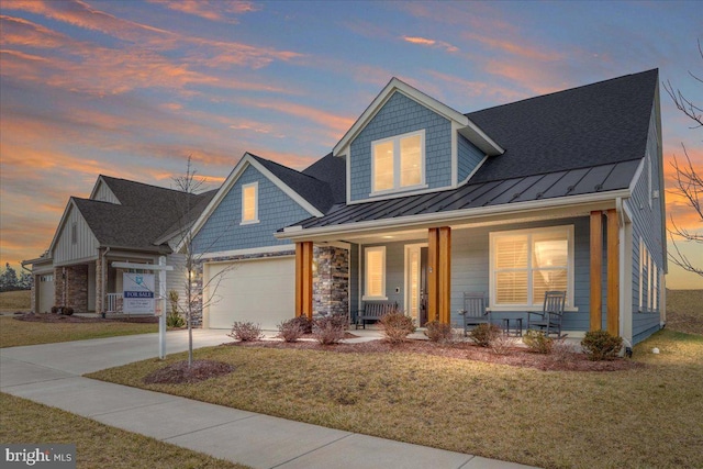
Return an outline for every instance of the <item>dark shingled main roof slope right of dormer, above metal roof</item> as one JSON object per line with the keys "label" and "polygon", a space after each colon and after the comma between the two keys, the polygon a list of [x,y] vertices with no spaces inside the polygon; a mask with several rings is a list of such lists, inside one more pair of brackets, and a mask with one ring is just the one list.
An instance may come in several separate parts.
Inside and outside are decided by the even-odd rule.
{"label": "dark shingled main roof slope right of dormer, above metal roof", "polygon": [[657,80],[648,70],[467,114],[505,148],[471,180],[640,159]]}

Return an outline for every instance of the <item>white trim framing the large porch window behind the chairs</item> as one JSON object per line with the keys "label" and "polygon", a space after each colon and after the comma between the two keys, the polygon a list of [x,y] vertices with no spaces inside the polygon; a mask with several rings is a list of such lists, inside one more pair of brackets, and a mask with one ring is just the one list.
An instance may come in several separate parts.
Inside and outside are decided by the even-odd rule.
{"label": "white trim framing the large porch window behind the chairs", "polygon": [[[574,269],[574,246],[573,246],[573,225],[559,225],[559,226],[545,226],[537,228],[527,228],[527,230],[509,230],[501,232],[491,232],[489,234],[489,245],[490,245],[490,271],[489,271],[489,290],[491,292],[489,299],[489,309],[491,311],[542,311],[544,304],[543,302],[535,304],[496,304],[495,303],[495,238],[500,236],[514,236],[514,235],[534,235],[534,234],[543,234],[548,232],[567,232],[567,244],[568,244],[568,254],[567,254],[567,301],[566,301],[566,311],[578,311],[578,308],[573,305],[573,271]],[[531,244],[532,249],[532,244]],[[528,266],[532,266],[532,250],[531,256],[528,257]],[[527,276],[527,298],[532,299],[532,276]]]}

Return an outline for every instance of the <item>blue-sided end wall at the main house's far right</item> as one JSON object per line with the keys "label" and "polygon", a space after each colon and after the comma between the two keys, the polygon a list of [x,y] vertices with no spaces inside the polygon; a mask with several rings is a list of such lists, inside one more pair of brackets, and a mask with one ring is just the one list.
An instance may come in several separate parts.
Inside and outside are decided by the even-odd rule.
{"label": "blue-sided end wall at the main house's far right", "polygon": [[[647,137],[646,155],[643,160],[643,170],[639,179],[635,182],[632,198],[626,202],[633,216],[633,340],[635,343],[643,340],[651,333],[660,327],[661,293],[665,289],[661,276],[663,271],[663,246],[666,239],[662,239],[661,225],[663,223],[663,213],[659,198],[665,197],[663,188],[659,186],[659,174],[663,170],[661,165],[661,148],[659,147],[659,138],[657,135],[656,114],[652,109],[649,120],[649,133]],[[639,266],[641,263],[639,244],[640,239],[646,246],[649,256],[655,265],[658,276],[657,279],[657,308],[655,311],[647,311],[646,298],[643,303],[639,301]]]}

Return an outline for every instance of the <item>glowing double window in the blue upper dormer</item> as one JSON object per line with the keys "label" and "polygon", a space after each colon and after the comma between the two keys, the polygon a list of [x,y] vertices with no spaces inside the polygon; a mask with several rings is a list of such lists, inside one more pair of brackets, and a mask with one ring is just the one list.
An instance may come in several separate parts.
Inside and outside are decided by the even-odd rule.
{"label": "glowing double window in the blue upper dormer", "polygon": [[420,188],[424,183],[424,130],[371,143],[372,193]]}

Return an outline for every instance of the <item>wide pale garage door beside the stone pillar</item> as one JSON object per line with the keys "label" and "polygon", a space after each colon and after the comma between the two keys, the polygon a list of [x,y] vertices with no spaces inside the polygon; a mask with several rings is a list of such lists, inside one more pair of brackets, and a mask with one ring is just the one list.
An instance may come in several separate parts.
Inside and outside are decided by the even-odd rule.
{"label": "wide pale garage door beside the stone pillar", "polygon": [[276,331],[295,315],[295,258],[207,264],[205,281],[220,284],[209,308],[211,328],[232,328],[235,321]]}

